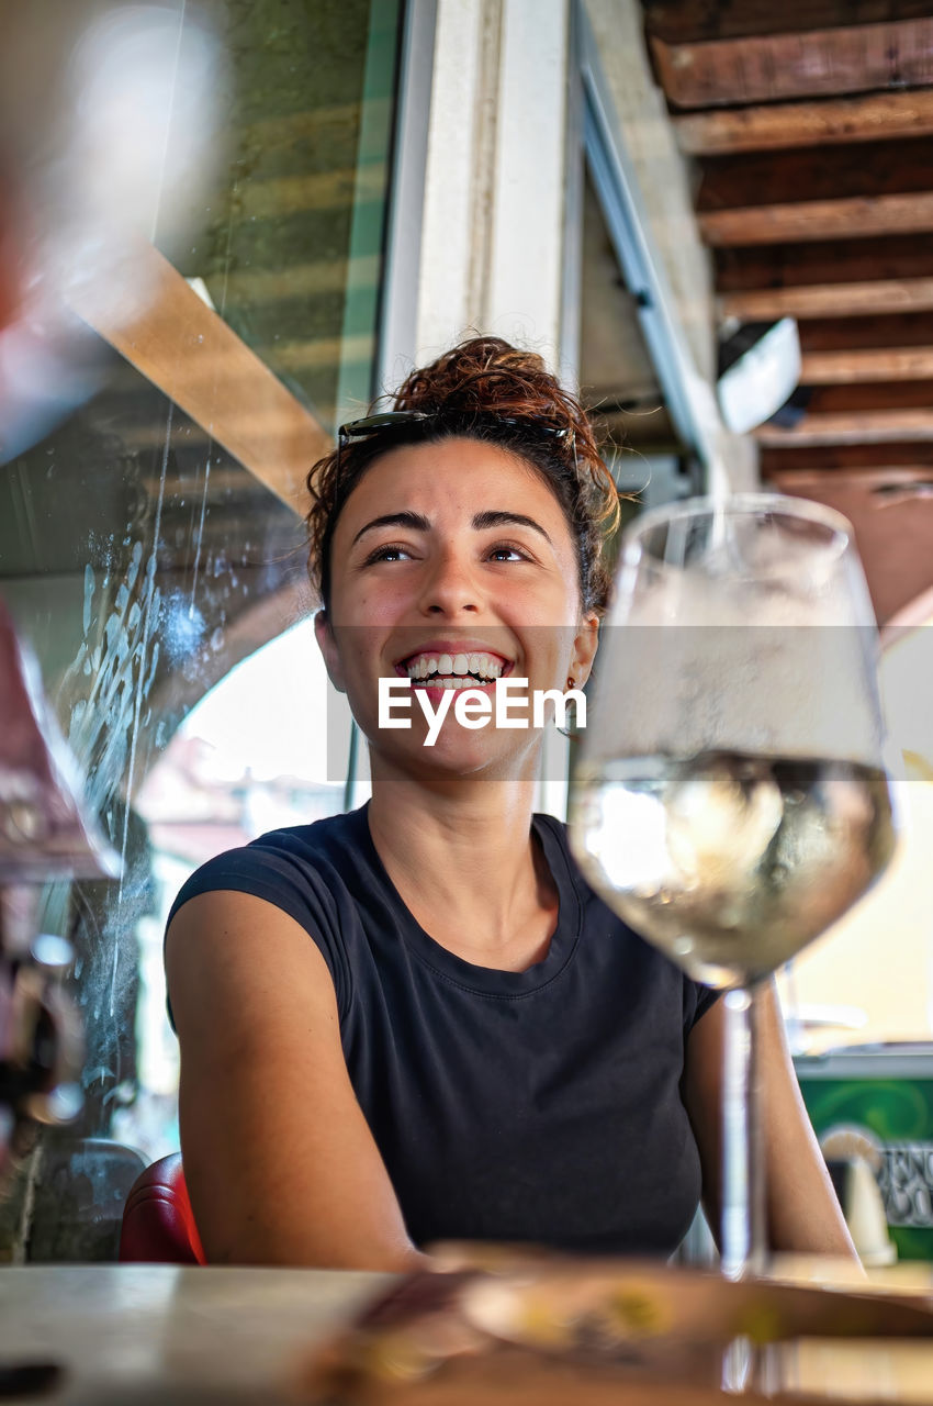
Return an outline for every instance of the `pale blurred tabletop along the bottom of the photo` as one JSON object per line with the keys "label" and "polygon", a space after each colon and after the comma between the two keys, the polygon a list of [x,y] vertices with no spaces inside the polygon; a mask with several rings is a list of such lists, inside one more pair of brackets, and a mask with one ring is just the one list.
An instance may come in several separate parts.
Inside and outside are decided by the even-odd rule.
{"label": "pale blurred tabletop along the bottom of the photo", "polygon": [[[821,1282],[812,1261],[781,1278]],[[871,1277],[929,1292],[930,1267]],[[56,1386],[21,1406],[295,1406],[295,1368],[389,1275],[171,1265],[0,1268],[0,1365],[58,1361]],[[843,1286],[840,1284],[840,1286]],[[850,1400],[933,1403],[933,1339],[798,1344],[784,1389]],[[659,1406],[663,1403],[659,1402]]]}

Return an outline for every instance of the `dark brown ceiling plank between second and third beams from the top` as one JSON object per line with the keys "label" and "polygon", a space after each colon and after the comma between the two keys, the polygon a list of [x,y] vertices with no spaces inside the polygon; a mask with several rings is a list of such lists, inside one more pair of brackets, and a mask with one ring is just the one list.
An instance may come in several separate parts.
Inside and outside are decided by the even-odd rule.
{"label": "dark brown ceiling plank between second and third beams from the top", "polygon": [[742,208],[759,195],[770,205],[905,195],[933,188],[933,138],[711,156],[701,167],[701,211]]}

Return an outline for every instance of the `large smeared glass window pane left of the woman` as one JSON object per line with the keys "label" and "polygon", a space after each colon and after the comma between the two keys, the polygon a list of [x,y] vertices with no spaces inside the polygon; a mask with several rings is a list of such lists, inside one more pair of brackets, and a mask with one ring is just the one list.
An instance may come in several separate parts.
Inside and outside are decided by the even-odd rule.
{"label": "large smeared glass window pane left of the woman", "polygon": [[[69,24],[107,8],[74,0]],[[139,267],[163,270],[156,301],[129,321],[90,319],[101,336],[84,333],[81,357],[98,392],[0,467],[0,593],[124,858],[119,882],[44,896],[42,928],[76,949],[86,1105],[77,1123],[42,1135],[41,1160],[0,1208],[0,1258],[115,1253],[138,1164],[94,1139],[138,1142],[150,1157],[174,1135],[159,1015],[169,890],[214,842],[219,852],[253,824],[341,806],[323,772],[291,786],[253,776],[237,800],[236,778],[221,768],[212,794],[202,769],[202,832],[178,853],[157,778],[171,747],[177,779],[177,749],[191,742],[181,724],[198,702],[311,605],[304,524],[275,479],[275,446],[294,447],[298,426],[320,453],[372,392],[399,15],[393,0],[177,4],[181,39],[190,25],[216,38],[226,146],[184,208],[148,231],[160,253],[141,245]],[[298,456],[302,472],[312,457]],[[284,725],[263,716],[261,697],[232,696],[244,747],[250,730]],[[304,727],[323,733],[319,690]]]}

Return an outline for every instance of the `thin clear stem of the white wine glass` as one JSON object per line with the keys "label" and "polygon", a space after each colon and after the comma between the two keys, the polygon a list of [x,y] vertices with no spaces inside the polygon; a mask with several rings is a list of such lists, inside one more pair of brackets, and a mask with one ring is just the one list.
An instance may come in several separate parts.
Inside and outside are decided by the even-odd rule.
{"label": "thin clear stem of the white wine glass", "polygon": [[725,995],[722,1073],[722,1272],[766,1268],[764,1147],[757,1024],[759,983]]}

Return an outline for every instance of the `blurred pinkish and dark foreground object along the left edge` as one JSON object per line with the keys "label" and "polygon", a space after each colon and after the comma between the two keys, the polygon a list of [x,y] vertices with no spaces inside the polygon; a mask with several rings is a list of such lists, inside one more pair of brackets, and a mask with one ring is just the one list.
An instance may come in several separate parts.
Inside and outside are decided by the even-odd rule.
{"label": "blurred pinkish and dark foreground object along the left edge", "polygon": [[79,796],[38,671],[0,602],[0,1178],[31,1123],[80,1109],[80,1022],[60,991],[72,949],[34,922],[44,880],[119,872]]}

